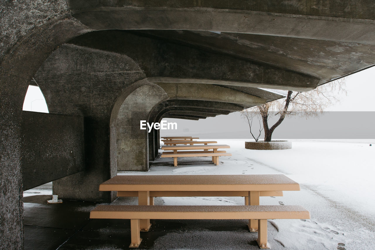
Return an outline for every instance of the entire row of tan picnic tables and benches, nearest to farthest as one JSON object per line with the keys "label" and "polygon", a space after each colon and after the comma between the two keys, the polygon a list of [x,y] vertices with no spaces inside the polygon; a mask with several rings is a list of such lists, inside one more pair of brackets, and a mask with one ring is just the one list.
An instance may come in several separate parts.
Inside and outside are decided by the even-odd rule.
{"label": "entire row of tan picnic tables and benches, nearest to farthest", "polygon": [[[181,153],[180,150],[196,150],[189,137],[181,140],[166,138],[162,147],[169,149],[163,154],[211,154],[220,146],[201,145],[201,153]],[[172,144],[172,145],[168,145]],[[177,145],[177,144],[183,145]],[[186,144],[185,144],[186,143]],[[216,142],[215,142],[216,143]],[[173,145],[176,144],[176,145]],[[219,146],[219,147],[217,147]],[[174,147],[178,147],[177,149]],[[207,149],[207,151],[204,151]],[[177,150],[175,153],[174,150]],[[191,151],[190,151],[191,152]],[[216,151],[217,152],[217,151]],[[214,152],[212,152],[214,153]],[[163,155],[162,154],[162,155]],[[185,156],[185,155],[184,155]],[[216,155],[214,156],[216,157]],[[213,159],[214,160],[214,159]],[[217,163],[216,159],[216,163]],[[177,162],[176,162],[177,165]],[[130,219],[130,248],[138,248],[140,232],[150,230],[150,219],[247,219],[250,232],[258,232],[260,248],[270,248],[267,242],[267,219],[309,219],[310,214],[302,206],[261,205],[260,196],[283,196],[283,191],[300,190],[300,185],[285,175],[117,175],[99,185],[100,191],[116,191],[117,197],[138,197],[138,205],[98,205],[90,212],[90,218]],[[244,205],[230,206],[155,206],[154,197],[245,197]],[[247,239],[245,239],[247,240]]]}

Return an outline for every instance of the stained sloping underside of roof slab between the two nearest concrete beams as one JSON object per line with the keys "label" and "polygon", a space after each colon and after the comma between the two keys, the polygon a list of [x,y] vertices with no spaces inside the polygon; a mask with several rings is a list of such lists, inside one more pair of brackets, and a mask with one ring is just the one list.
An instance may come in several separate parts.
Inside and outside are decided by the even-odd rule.
{"label": "stained sloping underside of roof slab between the two nearest concrete beams", "polygon": [[[301,72],[325,81],[369,67],[375,58],[373,45],[350,42],[187,30],[137,32]],[[351,63],[343,63],[347,61]]]}

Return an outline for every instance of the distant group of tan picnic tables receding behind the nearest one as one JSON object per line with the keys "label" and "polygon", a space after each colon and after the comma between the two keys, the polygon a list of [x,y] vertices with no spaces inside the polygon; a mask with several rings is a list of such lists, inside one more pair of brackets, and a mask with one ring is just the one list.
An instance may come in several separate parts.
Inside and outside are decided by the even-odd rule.
{"label": "distant group of tan picnic tables receding behind the nearest one", "polygon": [[173,164],[177,167],[178,157],[212,157],[212,162],[219,165],[219,156],[231,156],[224,148],[230,148],[229,145],[217,145],[216,141],[196,141],[199,137],[191,136],[175,136],[175,137],[162,137],[164,145],[161,147],[163,150],[162,158],[173,158]]}

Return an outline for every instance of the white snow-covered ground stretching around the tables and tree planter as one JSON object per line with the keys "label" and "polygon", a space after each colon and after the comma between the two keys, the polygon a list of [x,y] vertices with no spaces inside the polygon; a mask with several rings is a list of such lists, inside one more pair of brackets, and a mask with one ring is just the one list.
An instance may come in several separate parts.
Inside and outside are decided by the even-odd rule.
{"label": "white snow-covered ground stretching around the tables and tree planter", "polygon": [[[287,150],[245,149],[244,140],[217,140],[231,157],[159,158],[148,172],[120,175],[284,174],[301,191],[261,197],[263,205],[302,205],[311,220],[269,220],[273,249],[375,249],[373,140],[292,140]],[[375,140],[374,140],[375,141]],[[242,205],[242,197],[162,197],[164,205]],[[271,230],[272,226],[276,230]]]}

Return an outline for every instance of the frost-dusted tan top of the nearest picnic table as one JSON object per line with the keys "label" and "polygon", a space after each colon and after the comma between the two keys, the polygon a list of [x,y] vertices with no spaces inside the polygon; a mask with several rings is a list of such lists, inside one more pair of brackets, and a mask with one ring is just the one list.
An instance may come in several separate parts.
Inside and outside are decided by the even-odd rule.
{"label": "frost-dusted tan top of the nearest picnic table", "polygon": [[300,190],[285,175],[117,175],[100,191],[283,191]]}

